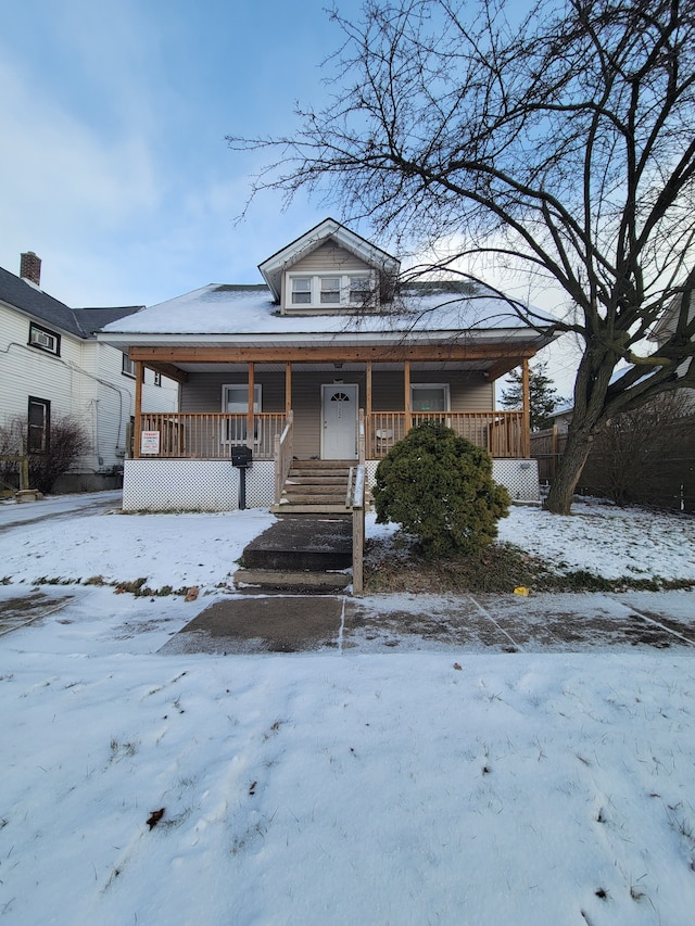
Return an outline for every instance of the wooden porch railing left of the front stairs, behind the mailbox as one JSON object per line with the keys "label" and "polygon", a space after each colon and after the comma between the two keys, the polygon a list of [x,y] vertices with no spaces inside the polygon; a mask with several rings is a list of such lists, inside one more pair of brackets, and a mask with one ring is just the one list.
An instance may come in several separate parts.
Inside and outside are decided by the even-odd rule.
{"label": "wooden porch railing left of the front stairs, behind the mailbox", "polygon": [[275,437],[280,435],[287,416],[276,411],[255,411],[253,434],[248,433],[247,414],[222,411],[143,411],[142,431],[159,433],[159,452],[140,456],[164,459],[229,459],[232,446],[245,444],[254,459],[271,460]]}

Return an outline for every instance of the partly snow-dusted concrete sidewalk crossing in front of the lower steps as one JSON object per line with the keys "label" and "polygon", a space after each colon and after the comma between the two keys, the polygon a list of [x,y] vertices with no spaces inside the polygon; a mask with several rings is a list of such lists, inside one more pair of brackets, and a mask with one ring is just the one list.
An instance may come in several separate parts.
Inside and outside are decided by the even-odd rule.
{"label": "partly snow-dusted concrete sidewalk crossing in front of the lower steps", "polygon": [[695,593],[236,596],[211,605],[160,652],[607,648],[695,656]]}

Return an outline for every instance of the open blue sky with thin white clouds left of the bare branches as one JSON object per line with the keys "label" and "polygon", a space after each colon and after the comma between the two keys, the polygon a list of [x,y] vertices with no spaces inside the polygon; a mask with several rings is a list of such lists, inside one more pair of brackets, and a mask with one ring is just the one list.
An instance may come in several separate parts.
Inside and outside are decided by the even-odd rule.
{"label": "open blue sky with thin white clouds left of the bare branches", "polygon": [[[301,193],[282,212],[267,193],[236,224],[266,157],[225,141],[291,132],[295,101],[326,98],[320,65],[342,35],[327,5],[5,0],[0,265],[18,274],[35,251],[42,288],[68,305],[151,305],[261,282],[261,261],[326,215],[341,220],[337,205]],[[349,17],[361,5],[338,0]],[[551,353],[568,394],[573,360]]]}

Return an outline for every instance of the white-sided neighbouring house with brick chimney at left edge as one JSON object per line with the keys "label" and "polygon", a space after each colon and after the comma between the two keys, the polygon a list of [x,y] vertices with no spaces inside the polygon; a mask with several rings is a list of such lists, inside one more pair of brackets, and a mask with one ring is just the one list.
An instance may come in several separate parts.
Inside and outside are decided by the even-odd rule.
{"label": "white-sided neighbouring house with brick chimney at left edge", "polygon": [[[97,341],[94,331],[132,315],[140,306],[70,308],[40,288],[41,261],[21,255],[20,276],[0,267],[0,427],[8,446],[24,454],[13,422],[24,422],[28,449],[49,453],[51,421],[72,417],[89,436],[90,452],[61,477],[56,491],[79,492],[121,485],[128,454],[135,394],[148,408],[178,407],[178,384],[152,370],[136,369],[127,353]],[[10,433],[12,432],[12,433]]]}

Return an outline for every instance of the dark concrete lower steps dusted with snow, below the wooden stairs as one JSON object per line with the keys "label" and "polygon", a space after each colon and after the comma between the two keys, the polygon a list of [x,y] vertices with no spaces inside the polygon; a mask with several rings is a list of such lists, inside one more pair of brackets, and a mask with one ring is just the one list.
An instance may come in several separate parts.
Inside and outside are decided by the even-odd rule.
{"label": "dark concrete lower steps dusted with snow, below the wooden stairs", "polygon": [[242,560],[237,586],[336,593],[352,581],[352,519],[282,518],[245,547]]}

